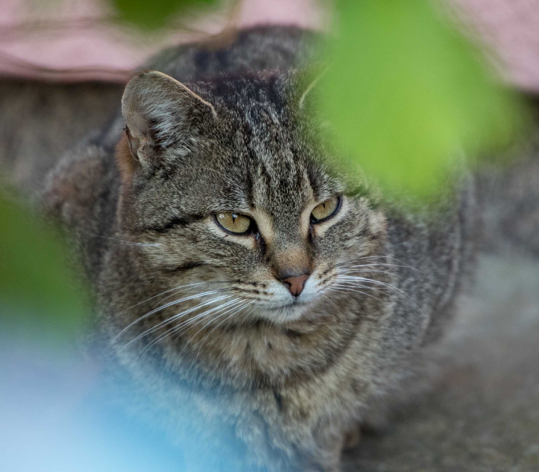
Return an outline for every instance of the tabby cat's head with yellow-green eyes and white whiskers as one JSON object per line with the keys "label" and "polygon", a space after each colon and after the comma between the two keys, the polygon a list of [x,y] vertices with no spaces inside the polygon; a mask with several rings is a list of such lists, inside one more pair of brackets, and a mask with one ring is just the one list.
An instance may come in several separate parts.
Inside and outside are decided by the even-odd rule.
{"label": "tabby cat's head with yellow-green eyes and white whiskers", "polygon": [[305,77],[129,82],[119,231],[147,244],[141,264],[160,289],[208,292],[228,304],[223,319],[285,323],[335,298],[342,264],[380,254],[384,216],[336,170]]}

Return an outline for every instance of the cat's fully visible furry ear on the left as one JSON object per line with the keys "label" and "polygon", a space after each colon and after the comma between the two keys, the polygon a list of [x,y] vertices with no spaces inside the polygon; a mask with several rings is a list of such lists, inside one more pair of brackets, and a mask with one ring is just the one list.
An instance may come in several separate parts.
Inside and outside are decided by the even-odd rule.
{"label": "cat's fully visible furry ear on the left", "polygon": [[143,166],[160,159],[166,149],[182,154],[197,126],[194,121],[217,117],[213,106],[176,79],[162,72],[133,77],[122,97],[130,158]]}

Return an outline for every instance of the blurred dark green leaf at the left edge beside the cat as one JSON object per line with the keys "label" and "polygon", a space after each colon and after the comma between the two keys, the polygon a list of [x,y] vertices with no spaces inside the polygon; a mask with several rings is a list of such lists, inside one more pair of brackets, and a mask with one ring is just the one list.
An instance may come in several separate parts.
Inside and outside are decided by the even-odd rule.
{"label": "blurred dark green leaf at the left edge beside the cat", "polygon": [[49,349],[65,346],[85,321],[85,297],[58,235],[1,191],[0,222],[2,336]]}

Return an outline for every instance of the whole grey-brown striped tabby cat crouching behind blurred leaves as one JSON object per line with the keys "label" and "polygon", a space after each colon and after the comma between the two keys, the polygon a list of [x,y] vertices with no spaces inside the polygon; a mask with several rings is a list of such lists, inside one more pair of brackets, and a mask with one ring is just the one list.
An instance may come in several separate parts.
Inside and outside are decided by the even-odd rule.
{"label": "whole grey-brown striped tabby cat crouching behind blurred leaves", "polygon": [[[469,257],[467,180],[428,217],[351,193],[293,70],[317,40],[261,28],[165,52],[150,68],[184,85],[136,76],[127,133],[113,120],[44,193],[86,265],[112,371],[180,443],[189,428],[223,450],[239,440],[232,469],[338,470],[345,436],[438,336]],[[222,227],[229,212],[250,230]]]}

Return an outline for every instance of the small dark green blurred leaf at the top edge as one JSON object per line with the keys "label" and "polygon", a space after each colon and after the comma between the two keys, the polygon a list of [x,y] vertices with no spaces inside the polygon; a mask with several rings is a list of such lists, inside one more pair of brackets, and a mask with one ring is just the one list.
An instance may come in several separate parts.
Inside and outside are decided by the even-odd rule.
{"label": "small dark green blurred leaf at the top edge", "polygon": [[110,0],[120,19],[153,30],[166,25],[172,17],[185,10],[202,9],[217,3],[217,0]]}

